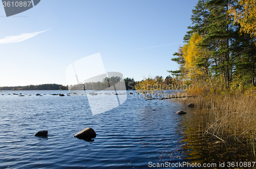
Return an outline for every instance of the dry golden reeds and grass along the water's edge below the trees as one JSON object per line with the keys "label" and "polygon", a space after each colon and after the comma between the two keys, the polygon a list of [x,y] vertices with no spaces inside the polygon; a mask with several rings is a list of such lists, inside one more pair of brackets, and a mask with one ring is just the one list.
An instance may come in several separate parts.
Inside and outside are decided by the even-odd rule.
{"label": "dry golden reeds and grass along the water's edge below the trees", "polygon": [[[234,138],[238,141],[256,141],[256,90],[246,92],[201,90],[185,91],[196,98],[180,99],[179,102],[194,103],[196,108],[205,109],[205,133],[215,135],[225,141]],[[253,146],[254,147],[254,146]]]}

